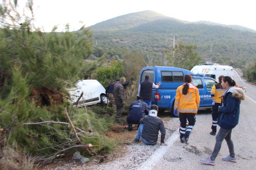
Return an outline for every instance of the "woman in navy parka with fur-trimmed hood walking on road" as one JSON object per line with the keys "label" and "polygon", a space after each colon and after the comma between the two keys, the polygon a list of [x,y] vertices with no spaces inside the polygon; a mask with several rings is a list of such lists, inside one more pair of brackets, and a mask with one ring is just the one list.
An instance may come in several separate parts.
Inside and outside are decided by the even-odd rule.
{"label": "woman in navy parka with fur-trimmed hood walking on road", "polygon": [[236,83],[229,76],[224,76],[221,81],[221,86],[225,89],[222,96],[222,103],[219,106],[218,124],[220,130],[216,136],[216,143],[212,154],[206,159],[201,159],[201,162],[206,165],[215,165],[222,141],[225,139],[228,145],[229,156],[223,157],[222,160],[237,162],[235,157],[234,144],[231,140],[232,129],[238,124],[240,103],[245,99],[244,92],[241,88],[235,87]]}

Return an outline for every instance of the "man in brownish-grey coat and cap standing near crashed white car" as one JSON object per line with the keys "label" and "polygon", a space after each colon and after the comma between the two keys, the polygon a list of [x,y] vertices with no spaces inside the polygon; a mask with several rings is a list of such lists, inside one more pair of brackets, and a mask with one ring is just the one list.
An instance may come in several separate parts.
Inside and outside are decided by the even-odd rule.
{"label": "man in brownish-grey coat and cap standing near crashed white car", "polygon": [[116,118],[120,118],[123,113],[123,105],[125,105],[125,95],[123,85],[125,84],[125,77],[121,77],[120,81],[114,86],[113,95],[115,98],[115,105],[117,106]]}

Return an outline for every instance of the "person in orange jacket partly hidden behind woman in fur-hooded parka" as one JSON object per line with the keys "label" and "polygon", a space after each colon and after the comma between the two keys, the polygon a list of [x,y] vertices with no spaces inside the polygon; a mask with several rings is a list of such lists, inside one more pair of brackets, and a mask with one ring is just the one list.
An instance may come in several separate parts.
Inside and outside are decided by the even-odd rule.
{"label": "person in orange jacket partly hidden behind woman in fur-hooded parka", "polygon": [[219,106],[221,103],[221,96],[223,95],[225,89],[221,86],[221,80],[224,75],[218,77],[219,83],[212,86],[211,96],[212,96],[212,132],[211,135],[216,135],[217,132],[217,120],[219,116]]}

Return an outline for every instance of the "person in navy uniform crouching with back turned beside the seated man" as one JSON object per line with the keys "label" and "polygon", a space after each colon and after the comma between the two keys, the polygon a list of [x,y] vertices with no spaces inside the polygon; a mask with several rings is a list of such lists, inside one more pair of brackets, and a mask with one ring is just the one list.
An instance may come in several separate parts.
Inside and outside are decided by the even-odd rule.
{"label": "person in navy uniform crouching with back turned beside the seated man", "polygon": [[149,110],[149,106],[147,106],[147,103],[143,102],[143,98],[137,96],[137,101],[131,103],[130,114],[126,118],[129,124],[128,130],[131,130],[131,124],[139,124],[139,120],[141,120],[145,114],[148,114]]}

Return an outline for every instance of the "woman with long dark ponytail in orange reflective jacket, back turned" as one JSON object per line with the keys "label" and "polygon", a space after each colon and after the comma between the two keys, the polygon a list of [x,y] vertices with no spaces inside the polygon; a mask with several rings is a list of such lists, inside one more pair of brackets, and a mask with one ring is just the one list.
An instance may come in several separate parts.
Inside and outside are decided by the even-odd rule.
{"label": "woman with long dark ponytail in orange reflective jacket, back turned", "polygon": [[[177,88],[174,114],[180,115],[180,140],[181,143],[188,144],[189,135],[196,122],[196,113],[198,111],[200,97],[198,88],[193,85],[190,74],[184,76],[184,84]],[[186,127],[186,122],[189,122]]]}

